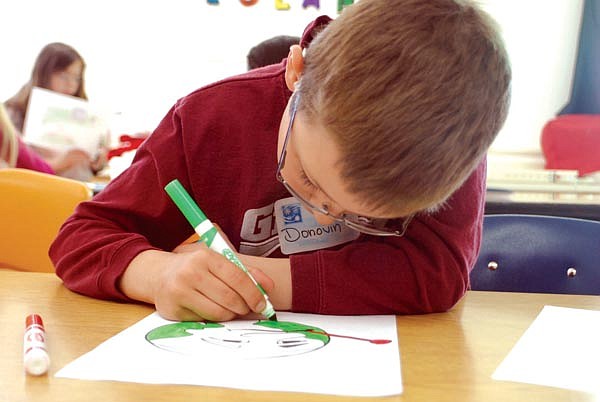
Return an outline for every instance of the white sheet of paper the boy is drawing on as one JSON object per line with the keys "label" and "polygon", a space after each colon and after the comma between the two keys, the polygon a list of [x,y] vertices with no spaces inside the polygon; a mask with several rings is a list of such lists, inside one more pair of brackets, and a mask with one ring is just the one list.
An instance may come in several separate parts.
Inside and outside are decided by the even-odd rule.
{"label": "white sheet of paper the boy is drawing on", "polygon": [[317,327],[311,334],[318,336],[236,320],[173,337],[181,326],[166,327],[175,323],[153,313],[56,376],[353,396],[402,393],[394,316],[277,315],[279,322]]}

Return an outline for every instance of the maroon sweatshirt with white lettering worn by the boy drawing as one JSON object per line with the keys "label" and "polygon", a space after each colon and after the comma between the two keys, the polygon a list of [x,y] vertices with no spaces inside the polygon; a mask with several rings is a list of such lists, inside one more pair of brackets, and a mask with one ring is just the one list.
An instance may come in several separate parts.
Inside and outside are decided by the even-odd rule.
{"label": "maroon sweatshirt with white lettering worn by the boy drawing", "polygon": [[[310,37],[310,30],[305,38]],[[149,249],[172,250],[193,229],[164,191],[179,179],[242,253],[285,257],[273,204],[290,196],[275,178],[277,138],[291,93],[284,63],[201,88],[180,99],[133,164],[84,202],[50,248],[56,272],[76,292],[128,300],[117,283]],[[404,237],[361,235],[290,256],[292,310],[321,314],[445,311],[465,293],[481,240],[485,162]]]}

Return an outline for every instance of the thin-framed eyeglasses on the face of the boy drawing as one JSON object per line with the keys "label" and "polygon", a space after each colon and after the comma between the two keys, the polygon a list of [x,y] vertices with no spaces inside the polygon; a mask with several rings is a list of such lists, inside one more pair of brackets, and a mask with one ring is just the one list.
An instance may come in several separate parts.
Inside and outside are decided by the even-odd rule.
{"label": "thin-framed eyeglasses on the face of the boy drawing", "polygon": [[[288,142],[290,139],[290,133],[292,132],[292,126],[294,125],[294,120],[296,119],[296,112],[298,110],[298,103],[300,100],[300,95],[298,95],[297,92],[294,93],[292,96],[293,96],[292,103],[290,105],[290,122],[289,122],[289,125],[287,128],[287,131],[285,133],[285,138],[283,140],[283,147],[281,149],[281,155],[279,156],[279,163],[277,165],[277,173],[276,173],[277,180],[279,180],[279,182],[284,185],[284,187],[287,189],[287,191],[289,191],[290,194],[292,194],[294,196],[294,198],[296,198],[302,204],[306,205],[309,209],[311,209],[313,211],[317,211],[320,214],[326,215],[335,221],[342,222],[346,226],[348,226],[354,230],[357,230],[361,233],[365,233],[368,235],[373,235],[373,236],[404,236],[404,233],[406,232],[406,229],[408,228],[408,224],[412,220],[414,214],[411,214],[403,219],[399,218],[399,219],[390,219],[390,220],[369,218],[366,216],[355,215],[355,214],[345,214],[345,213],[341,214],[341,215],[334,215],[331,212],[329,212],[327,204],[322,204],[321,206],[313,204],[306,198],[302,197],[296,190],[294,190],[292,188],[292,186],[290,186],[290,184],[287,181],[285,181],[285,179],[281,175],[281,170],[285,166],[285,157],[287,155],[287,145],[288,145]],[[398,225],[399,227],[395,228],[395,227],[386,226],[386,224],[389,221],[398,221],[398,220],[402,221]]]}

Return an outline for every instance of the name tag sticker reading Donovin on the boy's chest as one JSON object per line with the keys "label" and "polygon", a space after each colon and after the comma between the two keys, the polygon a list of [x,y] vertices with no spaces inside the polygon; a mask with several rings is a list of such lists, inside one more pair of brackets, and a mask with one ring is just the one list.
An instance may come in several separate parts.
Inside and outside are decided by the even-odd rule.
{"label": "name tag sticker reading Donovin on the boy's chest", "polygon": [[286,255],[337,246],[360,236],[342,222],[319,225],[294,197],[275,202],[274,213],[281,252]]}

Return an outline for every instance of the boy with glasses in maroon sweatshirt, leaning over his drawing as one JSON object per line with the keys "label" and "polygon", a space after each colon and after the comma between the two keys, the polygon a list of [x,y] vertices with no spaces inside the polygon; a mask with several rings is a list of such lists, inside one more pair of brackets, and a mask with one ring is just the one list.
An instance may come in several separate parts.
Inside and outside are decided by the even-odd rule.
{"label": "boy with glasses in maroon sweatshirt, leaning over his drawing", "polygon": [[[361,0],[319,17],[286,63],[180,99],[131,167],[62,226],[56,273],[168,319],[260,312],[240,269],[203,243],[180,245],[193,229],[164,191],[179,179],[278,310],[446,311],[479,251],[485,154],[510,75],[493,21],[465,0]],[[317,248],[287,236],[289,222],[321,236]]]}

